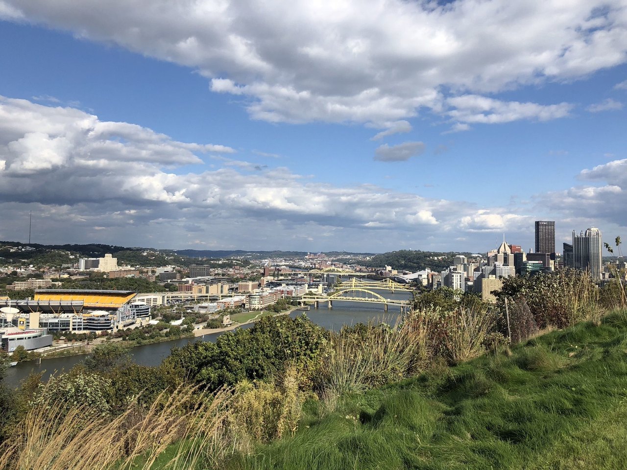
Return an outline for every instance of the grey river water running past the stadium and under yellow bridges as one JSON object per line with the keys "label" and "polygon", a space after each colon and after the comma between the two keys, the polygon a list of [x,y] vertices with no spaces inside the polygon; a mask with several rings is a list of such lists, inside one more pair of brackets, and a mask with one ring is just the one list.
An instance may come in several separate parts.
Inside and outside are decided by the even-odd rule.
{"label": "grey river water running past the stadium and under yellow bridges", "polygon": [[[391,293],[387,291],[378,291],[378,293],[387,299],[407,300],[411,297],[410,293]],[[389,311],[385,313],[381,304],[362,303],[362,302],[344,302],[334,301],[333,308],[328,308],[327,303],[320,303],[320,308],[315,309],[312,305],[308,311],[293,311],[290,316],[295,317],[305,313],[310,320],[327,330],[339,330],[342,325],[354,325],[356,323],[365,323],[369,320],[386,321],[394,323],[398,318],[399,310],[390,306]],[[241,328],[251,328],[254,323],[241,326]],[[182,338],[180,340],[165,341],[144,346],[137,346],[130,349],[130,355],[133,362],[140,365],[159,365],[164,358],[170,354],[173,347],[182,347],[189,342],[194,341],[210,341],[215,342],[216,338],[223,333],[211,333],[198,338]],[[4,384],[9,387],[17,387],[21,380],[28,377],[30,373],[43,372],[42,379],[47,380],[51,374],[55,372],[67,371],[74,365],[85,360],[85,355],[57,357],[41,360],[41,364],[34,361],[20,362],[15,367],[9,367],[4,377]]]}

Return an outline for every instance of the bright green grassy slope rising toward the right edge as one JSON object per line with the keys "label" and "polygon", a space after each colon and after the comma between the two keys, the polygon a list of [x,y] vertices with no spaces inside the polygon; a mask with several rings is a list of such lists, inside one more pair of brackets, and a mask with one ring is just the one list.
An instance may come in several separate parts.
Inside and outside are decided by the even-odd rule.
{"label": "bright green grassy slope rising toward the right edge", "polygon": [[232,469],[627,468],[627,318],[346,397]]}

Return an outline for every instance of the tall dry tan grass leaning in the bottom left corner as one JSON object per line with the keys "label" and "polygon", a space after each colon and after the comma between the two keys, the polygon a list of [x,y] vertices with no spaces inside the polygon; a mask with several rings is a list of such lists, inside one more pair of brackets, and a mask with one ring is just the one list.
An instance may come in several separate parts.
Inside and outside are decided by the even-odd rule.
{"label": "tall dry tan grass leaning in the bottom left corner", "polygon": [[[160,395],[148,409],[131,404],[117,417],[95,415],[84,406],[68,409],[62,402],[40,402],[0,446],[0,468],[147,470],[168,446],[179,441],[170,467],[191,469],[201,459],[213,457],[202,449],[215,451],[220,444],[229,395],[219,392],[207,397],[182,387],[168,397]],[[189,442],[196,445],[189,446]]]}

